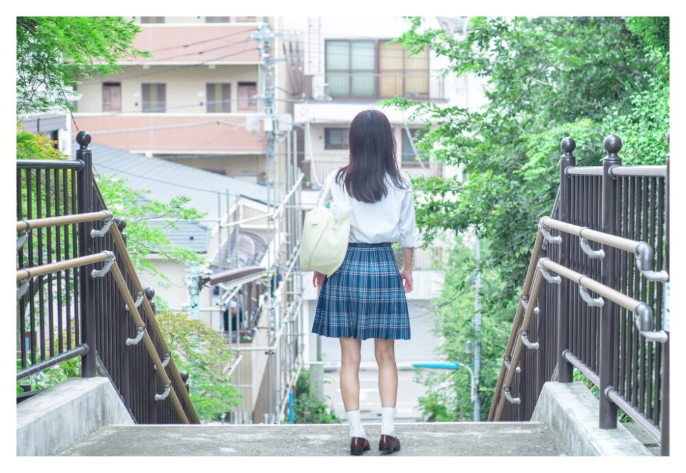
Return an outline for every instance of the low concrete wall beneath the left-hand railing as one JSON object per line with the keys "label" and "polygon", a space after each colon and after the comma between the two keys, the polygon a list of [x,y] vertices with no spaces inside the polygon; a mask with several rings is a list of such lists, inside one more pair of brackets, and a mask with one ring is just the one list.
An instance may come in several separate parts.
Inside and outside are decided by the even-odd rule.
{"label": "low concrete wall beneath the left-hand railing", "polygon": [[16,454],[56,454],[111,424],[134,421],[109,378],[69,378],[16,406]]}

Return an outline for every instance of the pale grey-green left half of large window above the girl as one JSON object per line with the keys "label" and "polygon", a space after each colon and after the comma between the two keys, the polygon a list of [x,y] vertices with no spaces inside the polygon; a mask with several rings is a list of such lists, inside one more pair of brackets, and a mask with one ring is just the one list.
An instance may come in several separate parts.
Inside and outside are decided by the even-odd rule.
{"label": "pale grey-green left half of large window above the girl", "polygon": [[331,97],[375,98],[376,58],[373,40],[328,40],[325,49]]}

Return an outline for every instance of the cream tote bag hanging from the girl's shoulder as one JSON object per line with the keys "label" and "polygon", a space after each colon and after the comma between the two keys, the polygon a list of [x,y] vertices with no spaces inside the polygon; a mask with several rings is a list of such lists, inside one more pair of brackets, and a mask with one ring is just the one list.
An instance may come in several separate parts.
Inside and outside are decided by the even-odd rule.
{"label": "cream tote bag hanging from the girl's shoulder", "polygon": [[335,173],[324,188],[317,206],[305,214],[303,237],[300,239],[300,267],[331,276],[345,258],[350,237],[350,196],[343,186],[345,202],[324,206]]}

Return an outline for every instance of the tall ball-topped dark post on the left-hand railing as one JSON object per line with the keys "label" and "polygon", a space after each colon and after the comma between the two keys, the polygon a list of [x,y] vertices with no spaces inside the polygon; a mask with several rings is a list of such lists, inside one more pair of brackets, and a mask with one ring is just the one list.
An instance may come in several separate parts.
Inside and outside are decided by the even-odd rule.
{"label": "tall ball-topped dark post on the left-hand railing", "polygon": [[[79,149],[76,151],[76,159],[84,163],[84,169],[78,173],[78,211],[79,213],[93,212],[93,157],[88,145],[91,143],[91,134],[85,130],[76,135]],[[93,222],[79,223],[79,256],[93,254],[93,239],[91,230]],[[92,378],[95,376],[95,284],[91,278],[94,265],[80,267],[80,314],[81,314],[81,341],[88,344],[88,352],[81,357],[81,376]]]}

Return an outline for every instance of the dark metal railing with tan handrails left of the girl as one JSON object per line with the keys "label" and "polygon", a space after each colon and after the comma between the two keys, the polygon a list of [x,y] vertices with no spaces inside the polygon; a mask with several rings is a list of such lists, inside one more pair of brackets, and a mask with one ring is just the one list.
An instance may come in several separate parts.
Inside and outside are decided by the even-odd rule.
{"label": "dark metal railing with tan handrails left of the girl", "polygon": [[93,180],[91,136],[77,141],[76,160],[17,162],[17,380],[81,356],[82,376],[108,376],[137,423],[200,423],[156,322],[154,291],[126,251],[126,222]]}

